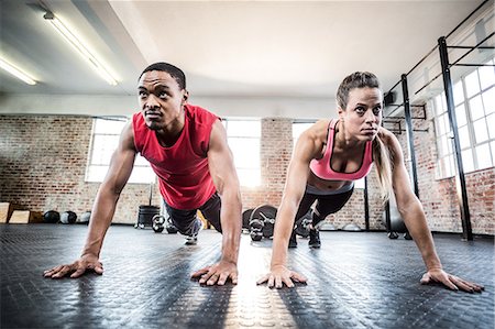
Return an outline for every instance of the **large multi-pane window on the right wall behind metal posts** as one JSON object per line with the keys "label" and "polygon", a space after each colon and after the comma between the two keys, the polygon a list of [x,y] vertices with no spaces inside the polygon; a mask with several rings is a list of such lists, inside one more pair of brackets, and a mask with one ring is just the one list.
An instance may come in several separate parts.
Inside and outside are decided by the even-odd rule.
{"label": "large multi-pane window on the right wall behind metal posts", "polygon": [[[494,61],[485,64],[494,65]],[[453,101],[464,172],[495,164],[495,67],[481,66],[453,85]],[[455,175],[454,150],[446,94],[435,97],[437,178]]]}

